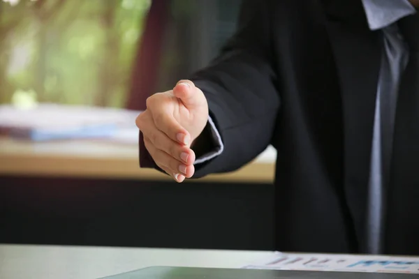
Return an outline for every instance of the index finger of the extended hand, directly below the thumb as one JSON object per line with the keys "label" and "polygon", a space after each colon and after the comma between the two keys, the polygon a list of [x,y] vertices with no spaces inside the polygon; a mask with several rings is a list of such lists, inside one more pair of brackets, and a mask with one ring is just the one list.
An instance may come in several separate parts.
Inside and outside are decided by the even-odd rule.
{"label": "index finger of the extended hand, directly below the thumb", "polygon": [[157,129],[165,133],[171,140],[189,146],[191,135],[176,121],[175,117],[163,111],[154,111],[152,115]]}

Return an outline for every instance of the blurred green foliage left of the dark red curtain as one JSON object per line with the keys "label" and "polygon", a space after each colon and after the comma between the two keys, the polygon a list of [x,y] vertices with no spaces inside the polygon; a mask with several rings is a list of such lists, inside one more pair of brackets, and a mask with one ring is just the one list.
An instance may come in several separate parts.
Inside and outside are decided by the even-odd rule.
{"label": "blurred green foliage left of the dark red curtain", "polygon": [[40,102],[124,105],[151,0],[4,1],[0,103],[27,91]]}

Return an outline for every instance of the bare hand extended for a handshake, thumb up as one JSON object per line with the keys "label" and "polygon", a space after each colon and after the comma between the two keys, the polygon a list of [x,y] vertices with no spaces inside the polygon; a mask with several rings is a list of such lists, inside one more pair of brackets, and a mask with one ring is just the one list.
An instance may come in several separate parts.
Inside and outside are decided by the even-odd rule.
{"label": "bare hand extended for a handshake, thumb up", "polygon": [[181,80],[173,90],[147,98],[147,110],[135,123],[156,165],[182,182],[195,171],[191,143],[207,121],[208,105],[203,92],[193,82]]}

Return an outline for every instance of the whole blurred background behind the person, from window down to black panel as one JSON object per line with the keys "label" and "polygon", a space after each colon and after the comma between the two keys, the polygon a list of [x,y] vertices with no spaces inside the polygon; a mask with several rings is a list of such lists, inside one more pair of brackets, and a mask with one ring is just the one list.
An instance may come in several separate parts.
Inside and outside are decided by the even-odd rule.
{"label": "whole blurred background behind the person, from window down to black panel", "polygon": [[0,243],[271,250],[274,160],[181,185],[138,166],[145,99],[240,0],[0,0]]}

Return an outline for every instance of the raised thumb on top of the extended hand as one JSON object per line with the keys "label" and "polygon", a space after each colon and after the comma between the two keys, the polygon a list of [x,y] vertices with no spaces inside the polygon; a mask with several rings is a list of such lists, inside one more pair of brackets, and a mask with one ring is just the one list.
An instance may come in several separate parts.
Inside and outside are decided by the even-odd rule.
{"label": "raised thumb on top of the extended hand", "polygon": [[177,82],[173,89],[173,95],[182,100],[182,103],[188,109],[193,109],[205,105],[206,103],[203,92],[190,80],[181,80]]}

